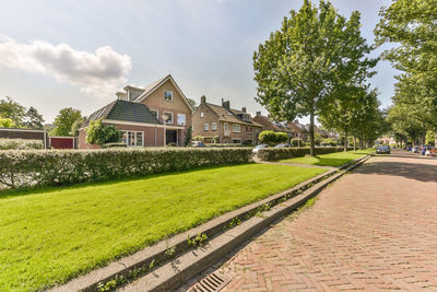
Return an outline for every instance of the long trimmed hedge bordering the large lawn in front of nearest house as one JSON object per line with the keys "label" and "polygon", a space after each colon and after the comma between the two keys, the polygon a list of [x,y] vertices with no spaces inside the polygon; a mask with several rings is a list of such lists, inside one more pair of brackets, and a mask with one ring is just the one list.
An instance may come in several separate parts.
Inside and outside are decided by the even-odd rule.
{"label": "long trimmed hedge bordering the large lawn in front of nearest house", "polygon": [[250,148],[23,150],[0,152],[0,185],[72,185],[251,162]]}

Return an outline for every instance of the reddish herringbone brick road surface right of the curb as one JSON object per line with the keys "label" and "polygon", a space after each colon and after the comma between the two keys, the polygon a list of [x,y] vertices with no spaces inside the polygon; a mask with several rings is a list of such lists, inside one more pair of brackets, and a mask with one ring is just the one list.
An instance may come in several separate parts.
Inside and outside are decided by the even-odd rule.
{"label": "reddish herringbone brick road surface right of the curb", "polygon": [[222,262],[224,291],[437,291],[437,160],[405,153],[370,159]]}

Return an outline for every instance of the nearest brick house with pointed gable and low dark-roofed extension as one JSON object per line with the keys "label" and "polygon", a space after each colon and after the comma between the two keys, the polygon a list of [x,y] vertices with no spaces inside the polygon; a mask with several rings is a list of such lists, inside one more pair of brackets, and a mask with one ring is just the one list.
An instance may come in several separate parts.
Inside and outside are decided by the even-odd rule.
{"label": "nearest brick house with pointed gable and low dark-roofed extension", "polygon": [[85,128],[102,119],[122,133],[128,147],[182,147],[191,126],[192,108],[170,74],[141,89],[126,86],[117,100],[90,115],[79,131],[79,148],[99,148],[85,141]]}

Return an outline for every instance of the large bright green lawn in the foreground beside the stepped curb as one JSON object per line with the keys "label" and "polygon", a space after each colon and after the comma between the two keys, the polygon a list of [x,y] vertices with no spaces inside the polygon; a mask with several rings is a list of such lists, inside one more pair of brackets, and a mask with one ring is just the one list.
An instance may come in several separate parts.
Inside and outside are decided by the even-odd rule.
{"label": "large bright green lawn in the foreground beside the stepped curb", "polygon": [[246,164],[1,194],[0,291],[66,282],[323,172]]}

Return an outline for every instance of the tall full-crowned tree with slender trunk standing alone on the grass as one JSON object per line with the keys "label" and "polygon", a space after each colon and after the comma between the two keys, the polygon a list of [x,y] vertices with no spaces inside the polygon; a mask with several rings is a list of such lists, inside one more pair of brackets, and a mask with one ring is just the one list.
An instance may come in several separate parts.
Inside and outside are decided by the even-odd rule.
{"label": "tall full-crowned tree with slender trunk standing alone on the grass", "polygon": [[361,84],[371,75],[376,59],[365,58],[371,47],[361,36],[359,13],[350,20],[321,0],[309,0],[292,10],[282,27],[272,33],[253,54],[256,101],[275,120],[309,116],[310,154],[315,155],[315,117],[326,104],[344,95],[333,95],[339,86]]}

